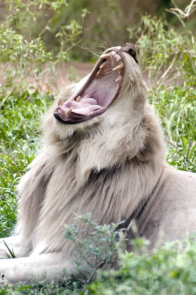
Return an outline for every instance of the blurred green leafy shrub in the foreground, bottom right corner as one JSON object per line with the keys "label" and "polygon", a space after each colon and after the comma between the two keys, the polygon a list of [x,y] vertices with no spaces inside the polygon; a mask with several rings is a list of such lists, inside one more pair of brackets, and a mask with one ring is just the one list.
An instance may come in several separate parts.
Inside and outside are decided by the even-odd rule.
{"label": "blurred green leafy shrub in the foreground, bottom right corner", "polygon": [[89,294],[196,294],[195,238],[167,243],[152,254],[147,254],[145,240],[137,239],[133,244],[137,252],[121,255],[119,270],[98,276],[97,282],[87,287]]}

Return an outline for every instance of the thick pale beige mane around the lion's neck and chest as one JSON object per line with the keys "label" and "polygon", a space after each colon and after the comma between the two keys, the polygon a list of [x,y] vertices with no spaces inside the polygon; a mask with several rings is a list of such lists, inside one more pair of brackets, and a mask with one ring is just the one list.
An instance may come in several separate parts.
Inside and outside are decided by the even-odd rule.
{"label": "thick pale beige mane around the lion's neck and chest", "polygon": [[[64,89],[64,100],[73,89],[74,85]],[[80,129],[62,124],[63,130],[57,132],[53,118],[57,102],[50,107],[43,120],[43,148],[18,188],[17,233],[26,249],[70,253],[73,245],[60,237],[64,224],[77,223],[75,213],[91,212],[100,224],[118,222],[149,197],[161,175],[165,145],[146,102],[146,89],[139,90],[135,116],[121,126],[95,118]],[[83,235],[87,234],[88,229]]]}

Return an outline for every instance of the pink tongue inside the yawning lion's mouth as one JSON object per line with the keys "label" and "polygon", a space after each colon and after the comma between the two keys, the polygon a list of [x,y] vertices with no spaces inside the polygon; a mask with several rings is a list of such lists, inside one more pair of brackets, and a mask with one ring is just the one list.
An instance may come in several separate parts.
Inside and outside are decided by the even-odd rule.
{"label": "pink tongue inside the yawning lion's mouth", "polygon": [[72,113],[78,115],[87,115],[93,111],[101,109],[101,106],[98,105],[97,100],[94,98],[84,98],[80,102],[74,100],[68,100],[64,103],[64,106],[68,109],[73,107]]}

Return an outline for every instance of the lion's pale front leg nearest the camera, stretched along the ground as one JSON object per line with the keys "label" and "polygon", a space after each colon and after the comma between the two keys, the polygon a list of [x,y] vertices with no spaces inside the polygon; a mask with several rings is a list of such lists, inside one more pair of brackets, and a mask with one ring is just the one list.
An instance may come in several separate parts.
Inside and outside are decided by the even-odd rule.
{"label": "lion's pale front leg nearest the camera, stretched along the ground", "polygon": [[30,283],[32,280],[61,280],[63,270],[66,275],[73,273],[73,264],[62,252],[31,255],[17,259],[0,261],[0,275],[4,274],[5,284],[14,285],[18,282]]}

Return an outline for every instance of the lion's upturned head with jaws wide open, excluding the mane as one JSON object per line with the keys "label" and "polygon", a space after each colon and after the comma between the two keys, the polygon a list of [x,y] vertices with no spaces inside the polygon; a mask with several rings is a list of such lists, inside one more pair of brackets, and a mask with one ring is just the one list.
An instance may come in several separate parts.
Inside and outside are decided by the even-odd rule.
{"label": "lion's upturned head with jaws wide open, excluding the mane", "polygon": [[56,129],[64,137],[66,130],[70,134],[100,121],[122,125],[132,120],[136,126],[144,116],[146,89],[134,45],[109,48],[91,74],[61,93]]}

